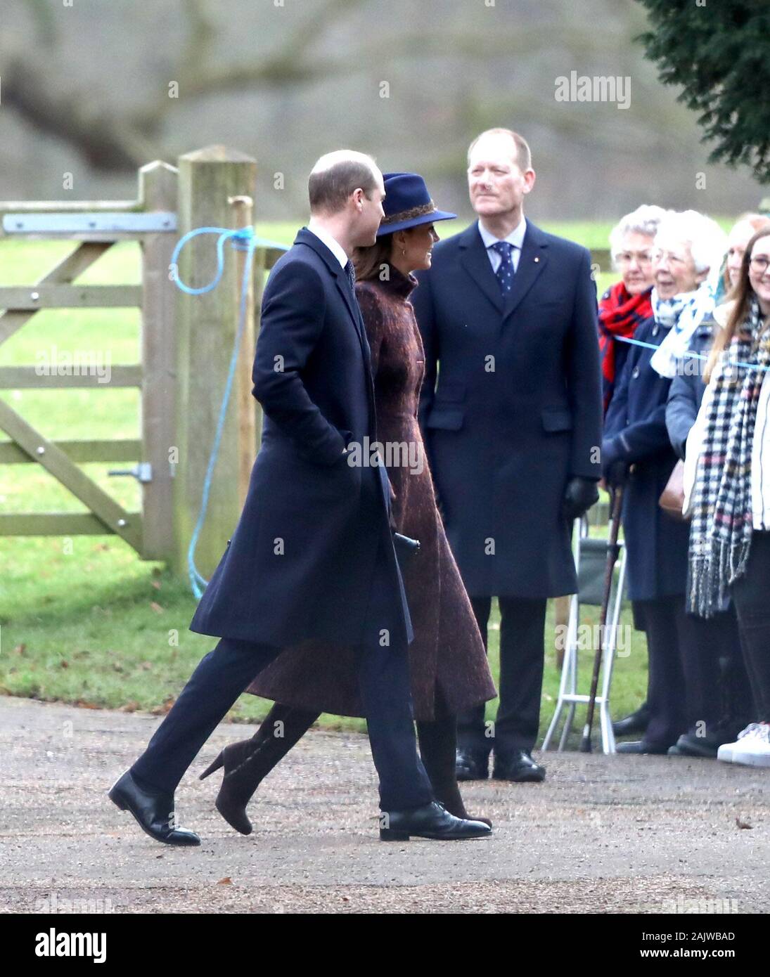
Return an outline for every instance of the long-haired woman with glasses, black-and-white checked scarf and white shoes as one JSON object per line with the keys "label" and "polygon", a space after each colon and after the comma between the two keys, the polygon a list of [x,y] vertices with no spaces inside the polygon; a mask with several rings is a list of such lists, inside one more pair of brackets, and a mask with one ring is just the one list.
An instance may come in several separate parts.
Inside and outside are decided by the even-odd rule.
{"label": "long-haired woman with glasses, black-and-white checked scarf and white shoes", "polygon": [[732,297],[688,446],[688,607],[711,617],[732,597],[759,722],[717,756],[770,767],[770,227],[749,240]]}

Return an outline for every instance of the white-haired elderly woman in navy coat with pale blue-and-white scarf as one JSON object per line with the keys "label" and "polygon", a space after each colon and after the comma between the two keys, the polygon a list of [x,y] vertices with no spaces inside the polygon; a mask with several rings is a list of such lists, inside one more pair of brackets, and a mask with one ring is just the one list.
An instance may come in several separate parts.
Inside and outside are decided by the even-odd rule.
{"label": "white-haired elderly woman in navy coat with pale blue-and-white scarf", "polygon": [[668,389],[713,308],[724,241],[703,214],[664,215],[652,254],[653,314],[636,328],[605,419],[602,470],[610,486],[624,485],[628,596],[644,619],[649,656],[649,722],[643,739],[619,743],[619,752],[666,753],[702,718],[685,679],[698,671],[708,622],[685,614],[689,528],[658,500],[677,461],[665,426]]}

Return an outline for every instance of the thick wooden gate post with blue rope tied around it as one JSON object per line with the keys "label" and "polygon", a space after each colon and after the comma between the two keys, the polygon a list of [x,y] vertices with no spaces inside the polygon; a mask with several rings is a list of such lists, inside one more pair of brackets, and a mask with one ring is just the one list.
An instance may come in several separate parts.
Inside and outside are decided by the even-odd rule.
{"label": "thick wooden gate post with blue rope tied around it", "polygon": [[[211,146],[179,157],[178,231],[199,227],[235,228],[235,196],[254,195],[256,160],[235,149]],[[195,237],[180,257],[179,276],[199,287],[212,280],[217,259],[214,235]],[[200,509],[203,481],[238,326],[238,263],[225,249],[225,270],[217,287],[203,295],[177,290],[177,385],[174,478],[174,550],[176,573],[188,573],[188,548]],[[198,538],[195,564],[207,579],[216,569],[240,515],[237,383],[214,470],[206,521]],[[253,450],[253,448],[252,448]]]}

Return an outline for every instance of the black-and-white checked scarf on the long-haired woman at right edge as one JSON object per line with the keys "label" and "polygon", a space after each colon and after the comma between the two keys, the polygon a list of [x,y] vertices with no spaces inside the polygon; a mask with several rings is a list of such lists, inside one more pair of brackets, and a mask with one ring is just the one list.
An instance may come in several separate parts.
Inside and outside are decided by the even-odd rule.
{"label": "black-and-white checked scarf on the long-haired woman at right edge", "polygon": [[[727,587],[746,573],[751,543],[751,447],[756,404],[770,367],[770,329],[756,296],[727,350],[707,404],[703,448],[693,487],[688,610],[710,617]],[[736,362],[753,367],[738,366]],[[764,367],[764,368],[763,368]]]}

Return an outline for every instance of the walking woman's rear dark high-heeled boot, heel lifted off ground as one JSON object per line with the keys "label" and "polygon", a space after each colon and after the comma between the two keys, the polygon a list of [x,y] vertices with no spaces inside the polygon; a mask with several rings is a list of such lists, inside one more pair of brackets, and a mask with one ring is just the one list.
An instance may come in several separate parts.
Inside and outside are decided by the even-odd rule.
{"label": "walking woman's rear dark high-heeled boot, heel lifted off ground", "polygon": [[276,702],[253,737],[229,743],[200,775],[202,781],[220,767],[225,768],[222,786],[214,803],[225,821],[236,831],[251,833],[246,804],[263,779],[294,743],[302,739],[320,715],[320,712],[308,712]]}

